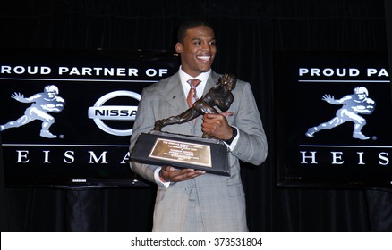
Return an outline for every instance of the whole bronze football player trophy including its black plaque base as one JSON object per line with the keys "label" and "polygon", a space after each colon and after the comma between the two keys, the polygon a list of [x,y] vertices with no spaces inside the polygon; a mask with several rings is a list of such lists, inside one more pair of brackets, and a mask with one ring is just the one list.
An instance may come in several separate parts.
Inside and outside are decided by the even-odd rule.
{"label": "whole bronze football player trophy including its black plaque base", "polygon": [[231,91],[236,81],[233,74],[224,74],[206,95],[201,96],[186,111],[156,121],[153,130],[139,136],[130,158],[135,162],[199,169],[229,176],[227,147],[221,140],[206,134],[192,137],[161,132],[161,129],[168,125],[192,121],[206,113],[219,113],[215,106],[221,114],[230,115],[231,112],[227,110],[234,101]]}

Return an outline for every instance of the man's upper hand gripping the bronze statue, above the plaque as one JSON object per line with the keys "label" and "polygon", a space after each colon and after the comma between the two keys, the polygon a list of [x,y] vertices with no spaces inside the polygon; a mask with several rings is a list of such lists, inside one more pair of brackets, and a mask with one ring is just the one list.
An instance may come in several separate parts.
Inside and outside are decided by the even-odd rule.
{"label": "man's upper hand gripping the bronze statue, above the plaque", "polygon": [[204,114],[201,130],[209,137],[216,137],[221,140],[227,140],[233,136],[233,128],[227,123],[226,117],[223,114]]}

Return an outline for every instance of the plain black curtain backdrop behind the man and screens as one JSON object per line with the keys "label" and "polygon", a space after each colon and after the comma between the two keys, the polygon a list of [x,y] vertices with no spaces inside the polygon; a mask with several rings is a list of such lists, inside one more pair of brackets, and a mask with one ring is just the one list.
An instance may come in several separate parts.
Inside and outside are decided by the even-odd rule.
{"label": "plain black curtain backdrop behind the man and screens", "polygon": [[[277,187],[275,157],[274,52],[386,51],[382,0],[2,1],[0,47],[173,51],[177,24],[199,16],[215,26],[214,69],[251,82],[268,134],[267,162],[243,164],[250,230],[391,230],[390,221],[379,223],[391,217],[389,192]],[[149,231],[155,189],[2,188],[1,195],[2,230]]]}

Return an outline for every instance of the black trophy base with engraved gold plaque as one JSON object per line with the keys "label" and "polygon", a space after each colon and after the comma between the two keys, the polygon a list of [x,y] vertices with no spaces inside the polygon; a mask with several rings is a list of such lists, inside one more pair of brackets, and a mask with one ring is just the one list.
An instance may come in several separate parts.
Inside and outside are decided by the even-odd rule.
{"label": "black trophy base with engraved gold plaque", "polygon": [[152,130],[139,136],[130,158],[134,162],[230,176],[227,152],[227,146],[217,139]]}

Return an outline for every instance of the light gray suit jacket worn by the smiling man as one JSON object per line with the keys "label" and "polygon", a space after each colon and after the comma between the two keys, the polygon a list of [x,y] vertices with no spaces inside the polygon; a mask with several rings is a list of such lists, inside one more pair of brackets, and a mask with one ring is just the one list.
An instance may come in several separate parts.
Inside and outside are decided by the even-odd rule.
{"label": "light gray suit jacket worn by the smiling man", "polygon": [[[220,75],[211,72],[204,89],[206,94]],[[240,160],[260,165],[268,152],[262,127],[249,83],[237,80],[232,91],[234,102],[227,118],[238,128],[239,140],[229,153],[231,176],[206,173],[195,179],[158,187],[154,210],[154,231],[247,231],[245,197],[240,176]],[[131,147],[143,132],[153,129],[157,120],[178,115],[188,108],[178,73],[143,89],[138,114],[133,126]],[[179,134],[201,136],[202,117],[162,129]],[[131,162],[132,171],[151,182],[158,166]]]}

